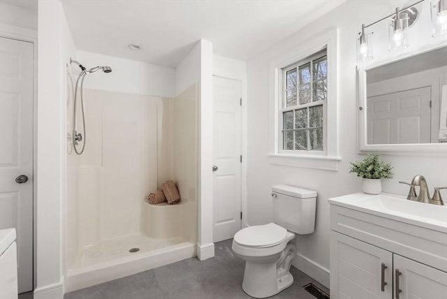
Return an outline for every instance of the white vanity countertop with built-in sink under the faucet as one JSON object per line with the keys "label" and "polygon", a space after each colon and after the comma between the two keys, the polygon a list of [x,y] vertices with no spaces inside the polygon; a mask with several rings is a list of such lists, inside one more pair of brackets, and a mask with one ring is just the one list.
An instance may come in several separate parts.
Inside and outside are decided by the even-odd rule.
{"label": "white vanity countertop with built-in sink under the faucet", "polygon": [[379,195],[350,194],[349,196],[330,198],[329,202],[447,233],[447,206],[445,205],[418,203],[407,200],[406,196],[386,193]]}

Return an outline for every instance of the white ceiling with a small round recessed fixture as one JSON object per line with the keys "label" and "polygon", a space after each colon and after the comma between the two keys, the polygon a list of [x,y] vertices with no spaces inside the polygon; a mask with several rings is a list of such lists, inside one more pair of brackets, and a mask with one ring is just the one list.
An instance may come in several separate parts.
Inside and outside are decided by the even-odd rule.
{"label": "white ceiling with a small round recessed fixture", "polygon": [[[203,38],[248,60],[346,0],[62,0],[78,50],[177,66]],[[141,44],[132,51],[129,43]]]}

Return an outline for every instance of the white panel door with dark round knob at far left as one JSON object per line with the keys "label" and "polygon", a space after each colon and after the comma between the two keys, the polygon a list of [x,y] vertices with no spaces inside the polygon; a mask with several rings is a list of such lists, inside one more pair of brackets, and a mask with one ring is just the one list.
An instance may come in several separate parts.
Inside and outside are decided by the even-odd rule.
{"label": "white panel door with dark round knob at far left", "polygon": [[0,38],[0,229],[17,231],[19,293],[33,289],[33,57]]}

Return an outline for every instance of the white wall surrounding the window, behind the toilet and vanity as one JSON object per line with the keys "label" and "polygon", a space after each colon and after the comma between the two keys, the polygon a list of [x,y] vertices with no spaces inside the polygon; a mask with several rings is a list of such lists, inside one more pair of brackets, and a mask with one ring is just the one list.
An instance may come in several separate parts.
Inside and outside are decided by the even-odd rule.
{"label": "white wall surrounding the window, behind the toilet and vanity", "polygon": [[[298,256],[294,265],[326,286],[329,284],[329,205],[328,198],[360,191],[360,178],[348,173],[349,162],[361,159],[358,154],[356,115],[356,38],[361,24],[370,24],[393,13],[407,1],[347,1],[321,19],[247,63],[248,77],[248,212],[249,224],[272,221],[271,186],[291,184],[318,192],[316,231],[297,238]],[[367,12],[367,13],[359,13]],[[278,166],[269,163],[269,136],[272,124],[268,119],[272,85],[270,63],[281,59],[296,45],[331,29],[339,28],[339,162],[338,171]],[[383,180],[383,191],[407,194],[407,187],[398,180],[409,181],[418,173],[427,177],[430,187],[445,184],[447,159],[436,156],[383,156],[395,167],[395,177]]]}

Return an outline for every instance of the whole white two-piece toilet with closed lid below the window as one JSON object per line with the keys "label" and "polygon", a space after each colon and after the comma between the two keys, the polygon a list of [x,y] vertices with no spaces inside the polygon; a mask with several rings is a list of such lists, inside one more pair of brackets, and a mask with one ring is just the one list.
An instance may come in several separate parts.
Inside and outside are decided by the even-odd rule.
{"label": "whole white two-piece toilet with closed lid below the window", "polygon": [[243,228],[233,239],[233,251],[246,261],[242,289],[254,298],[273,296],[293,284],[289,270],[295,233],[315,229],[316,191],[286,185],[272,191],[274,223]]}

